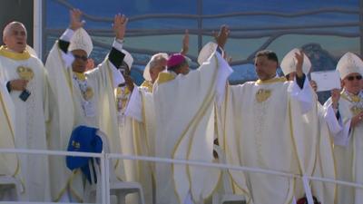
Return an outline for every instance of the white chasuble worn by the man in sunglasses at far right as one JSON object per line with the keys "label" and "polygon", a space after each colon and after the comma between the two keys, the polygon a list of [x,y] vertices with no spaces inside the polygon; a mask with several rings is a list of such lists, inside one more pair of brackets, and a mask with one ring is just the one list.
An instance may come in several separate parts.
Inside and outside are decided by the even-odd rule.
{"label": "white chasuble worn by the man in sunglasses at far right", "polygon": [[[325,106],[331,105],[331,98]],[[337,169],[337,180],[363,183],[363,124],[360,121],[355,127],[350,127],[351,119],[363,111],[363,97],[343,91],[338,101],[340,131],[334,134],[334,156]],[[363,189],[348,186],[337,186],[337,203],[358,204],[363,200]]]}

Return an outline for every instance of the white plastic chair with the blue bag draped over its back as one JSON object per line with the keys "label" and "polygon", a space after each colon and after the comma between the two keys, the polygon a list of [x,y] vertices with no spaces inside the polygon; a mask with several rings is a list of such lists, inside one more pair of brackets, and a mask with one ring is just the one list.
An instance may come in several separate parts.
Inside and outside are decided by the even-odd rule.
{"label": "white plastic chair with the blue bag draped over its back", "polygon": [[[102,131],[97,131],[97,135],[100,136],[100,138],[103,141],[103,152],[109,153],[109,143],[107,140],[106,135]],[[110,175],[110,195],[117,197],[117,203],[118,204],[124,204],[125,203],[125,197],[127,194],[130,193],[138,193],[139,194],[139,204],[144,204],[145,201],[143,199],[143,191],[142,186],[138,182],[130,182],[130,181],[119,181],[116,178],[116,175],[113,171],[113,165],[112,162],[109,162],[109,175]],[[84,198],[83,200],[89,202],[91,200],[96,200],[99,202],[101,200],[101,180],[98,179],[97,183],[94,181],[94,175],[96,175],[96,178],[101,178],[101,168],[99,165],[93,165],[97,164],[96,159],[93,158],[93,162],[90,160],[89,162],[89,168],[91,171],[91,184],[89,182],[86,182],[86,187],[84,189]],[[95,172],[94,172],[94,171]]]}

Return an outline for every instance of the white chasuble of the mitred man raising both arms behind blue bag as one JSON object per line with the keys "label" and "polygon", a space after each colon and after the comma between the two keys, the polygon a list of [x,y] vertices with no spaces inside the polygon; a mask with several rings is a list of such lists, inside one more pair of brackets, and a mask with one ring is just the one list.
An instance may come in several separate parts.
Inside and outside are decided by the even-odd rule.
{"label": "white chasuble of the mitred man raising both arms behind blue bag", "polygon": [[[99,128],[107,135],[110,151],[119,153],[120,137],[117,128],[116,102],[113,97],[113,74],[111,63],[106,58],[103,63],[79,79],[72,68],[64,63],[64,53],[55,43],[48,55],[45,68],[54,92],[54,108],[49,130],[51,150],[65,151],[69,138],[75,127],[86,125]],[[81,82],[79,82],[79,81]],[[85,81],[85,82],[84,82]],[[86,84],[87,94],[80,83]],[[81,84],[82,85],[82,84]],[[116,175],[122,162],[113,160]],[[56,173],[52,182],[52,196],[59,200],[67,187],[79,201],[83,200],[83,180],[80,170],[68,170],[64,157],[51,160],[52,172]]]}

